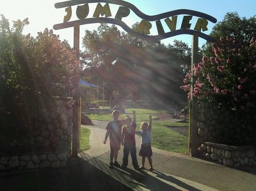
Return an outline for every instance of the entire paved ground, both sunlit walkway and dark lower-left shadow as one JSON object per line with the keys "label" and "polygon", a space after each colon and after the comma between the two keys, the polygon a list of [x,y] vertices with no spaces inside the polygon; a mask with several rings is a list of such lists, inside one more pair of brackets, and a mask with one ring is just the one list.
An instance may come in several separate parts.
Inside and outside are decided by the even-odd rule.
{"label": "entire paved ground, both sunlit walkway and dark lower-left shadow", "polygon": [[[105,123],[89,126],[90,149],[69,160],[67,168],[0,172],[3,191],[255,191],[256,170],[235,170],[153,148],[155,171],[110,169]],[[140,146],[136,137],[137,147]],[[138,149],[138,148],[137,148]],[[138,153],[138,150],[137,150]],[[122,163],[122,149],[118,156]],[[141,157],[138,157],[141,164]],[[146,168],[148,162],[146,161]]]}

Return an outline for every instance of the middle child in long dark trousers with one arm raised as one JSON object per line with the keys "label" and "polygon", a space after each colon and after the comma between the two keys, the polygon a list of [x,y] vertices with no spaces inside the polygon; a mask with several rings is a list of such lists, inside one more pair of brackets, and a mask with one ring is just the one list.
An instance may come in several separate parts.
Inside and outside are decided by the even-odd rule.
{"label": "middle child in long dark trousers with one arm raised", "polygon": [[133,111],[134,121],[129,115],[126,115],[124,123],[127,127],[122,128],[122,145],[123,147],[123,159],[121,168],[126,168],[128,165],[128,156],[131,153],[134,169],[138,170],[139,165],[136,156],[136,144],[135,144],[135,129],[136,129],[136,113]]}

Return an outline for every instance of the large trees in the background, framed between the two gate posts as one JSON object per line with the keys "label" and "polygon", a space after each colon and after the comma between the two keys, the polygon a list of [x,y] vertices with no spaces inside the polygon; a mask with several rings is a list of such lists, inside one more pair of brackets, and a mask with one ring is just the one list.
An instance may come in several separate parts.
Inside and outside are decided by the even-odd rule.
{"label": "large trees in the background, framed between the two gate posts", "polygon": [[88,77],[91,83],[97,78],[106,82],[108,100],[114,99],[113,91],[119,92],[120,99],[131,95],[134,101],[182,100],[178,87],[191,54],[186,43],[175,41],[166,46],[145,42],[113,25],[101,24],[97,31],[85,32],[83,46],[84,75],[92,76]]}

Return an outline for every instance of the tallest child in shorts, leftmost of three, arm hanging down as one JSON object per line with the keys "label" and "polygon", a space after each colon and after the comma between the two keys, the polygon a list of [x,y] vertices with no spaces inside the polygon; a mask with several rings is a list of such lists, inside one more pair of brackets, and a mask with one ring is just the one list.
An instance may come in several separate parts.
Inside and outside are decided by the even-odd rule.
{"label": "tallest child in shorts, leftmost of three, arm hanging down", "polygon": [[120,112],[114,110],[112,112],[113,120],[110,121],[106,127],[107,132],[105,135],[105,140],[103,141],[106,144],[108,137],[110,136],[110,167],[120,167],[120,164],[117,162],[118,150],[121,148],[121,139],[122,139],[122,121],[119,120]]}

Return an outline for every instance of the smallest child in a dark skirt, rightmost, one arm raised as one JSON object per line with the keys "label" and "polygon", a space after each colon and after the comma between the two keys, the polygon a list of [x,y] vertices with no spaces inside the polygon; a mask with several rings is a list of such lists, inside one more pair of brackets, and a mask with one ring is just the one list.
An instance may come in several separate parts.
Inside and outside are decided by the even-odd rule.
{"label": "smallest child in a dark skirt, rightmost, one arm raised", "polygon": [[152,116],[149,116],[149,125],[146,122],[142,122],[141,130],[137,131],[141,135],[141,149],[139,156],[142,157],[142,166],[140,169],[144,169],[145,159],[148,159],[150,168],[149,170],[154,170],[152,165],[152,149],[151,149],[151,128],[152,128]]}

